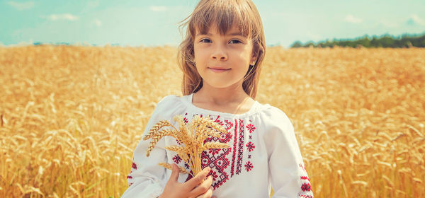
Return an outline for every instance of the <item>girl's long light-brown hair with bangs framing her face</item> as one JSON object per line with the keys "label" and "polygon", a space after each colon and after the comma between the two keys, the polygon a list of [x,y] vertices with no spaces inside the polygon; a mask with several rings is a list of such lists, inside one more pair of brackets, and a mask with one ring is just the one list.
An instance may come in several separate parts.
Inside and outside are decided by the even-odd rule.
{"label": "girl's long light-brown hair with bangs framing her face", "polygon": [[215,26],[225,35],[232,25],[237,25],[242,35],[252,41],[256,63],[249,66],[242,88],[251,98],[255,98],[266,42],[259,11],[251,0],[200,0],[191,15],[182,21],[180,28],[186,28],[186,36],[179,45],[178,59],[183,71],[183,95],[196,93],[202,88],[202,78],[196,70],[193,50],[196,30],[208,33],[209,28]]}

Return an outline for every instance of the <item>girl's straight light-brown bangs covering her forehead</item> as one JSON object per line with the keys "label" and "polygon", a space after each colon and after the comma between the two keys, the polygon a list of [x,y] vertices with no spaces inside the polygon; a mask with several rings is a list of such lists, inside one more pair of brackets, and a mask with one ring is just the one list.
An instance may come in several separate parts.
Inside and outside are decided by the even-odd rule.
{"label": "girl's straight light-brown bangs covering her forehead", "polygon": [[220,34],[225,35],[233,27],[239,29],[244,37],[253,38],[253,24],[249,18],[251,8],[248,4],[238,1],[216,0],[214,3],[199,4],[188,21],[188,30],[195,37],[196,30],[201,34],[207,34],[210,28],[216,27]]}

